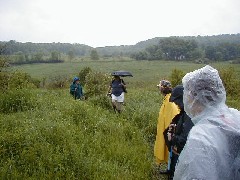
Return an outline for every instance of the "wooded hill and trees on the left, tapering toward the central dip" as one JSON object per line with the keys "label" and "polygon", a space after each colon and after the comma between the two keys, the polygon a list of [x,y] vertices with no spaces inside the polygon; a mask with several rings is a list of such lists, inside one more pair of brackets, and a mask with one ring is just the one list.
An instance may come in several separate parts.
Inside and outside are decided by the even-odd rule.
{"label": "wooded hill and trees on the left, tapering toward the central dip", "polygon": [[0,54],[8,56],[10,64],[61,63],[67,58],[86,56],[93,49],[70,43],[0,42]]}

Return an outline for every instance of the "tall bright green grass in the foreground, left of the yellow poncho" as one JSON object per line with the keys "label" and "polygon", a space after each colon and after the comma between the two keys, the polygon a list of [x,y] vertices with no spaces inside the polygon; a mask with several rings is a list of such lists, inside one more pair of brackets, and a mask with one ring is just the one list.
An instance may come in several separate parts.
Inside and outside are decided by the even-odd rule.
{"label": "tall bright green grass in the foreground, left of the yellow poncho", "polygon": [[0,115],[2,179],[152,179],[146,111],[127,119],[67,90],[33,91],[34,110]]}

